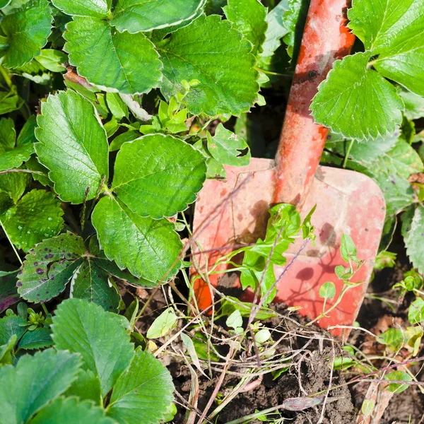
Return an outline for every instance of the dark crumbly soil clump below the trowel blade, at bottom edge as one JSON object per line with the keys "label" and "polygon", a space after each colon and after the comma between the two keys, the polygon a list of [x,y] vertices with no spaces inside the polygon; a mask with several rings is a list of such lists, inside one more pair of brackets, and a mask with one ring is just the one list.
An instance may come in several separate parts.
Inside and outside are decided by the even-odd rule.
{"label": "dark crumbly soil clump below the trowel blade, at bottom edge", "polygon": [[[232,281],[234,280],[229,278],[229,281],[225,281],[225,283],[231,286]],[[224,287],[221,286],[221,288]],[[274,307],[276,307],[278,312],[284,311],[287,315],[287,310],[285,310],[283,305],[274,305]],[[293,315],[293,317],[295,316]],[[300,334],[301,331],[299,331],[300,326],[296,324],[295,319],[281,320],[273,318],[268,322],[264,322],[264,325],[278,328],[281,331],[287,331],[291,335],[282,341],[281,344],[278,344],[277,351],[278,353],[285,352],[286,355],[299,351],[300,354],[293,361],[296,365],[290,367],[281,377],[276,379],[273,378],[270,372],[265,373],[258,387],[245,393],[237,394],[235,399],[220,411],[216,421],[214,418],[214,422],[217,424],[228,423],[255,413],[255,411],[263,411],[266,408],[281,405],[286,399],[302,398],[318,393],[321,396],[325,396],[329,387],[336,387],[345,383],[345,379],[340,372],[333,371],[331,373],[331,367],[329,365],[331,358],[333,355],[341,355],[341,349],[337,342],[331,343],[331,336],[326,331],[319,329],[319,327],[313,327],[311,331],[308,331],[308,334],[302,336]],[[299,331],[299,334],[296,333],[296,330]],[[313,334],[317,335],[317,339],[313,338]],[[279,333],[273,334],[274,339],[278,337]],[[230,367],[229,370],[232,372],[242,372],[237,367]],[[187,401],[192,387],[192,377],[188,368],[184,363],[172,363],[170,365],[170,371],[176,390]],[[197,372],[197,375],[199,377],[199,401],[197,409],[201,412],[213,395],[213,390],[218,383],[220,373],[214,372],[211,380],[201,376],[199,372]],[[226,375],[223,385],[219,390],[220,394],[228,394],[239,382],[240,377]],[[209,413],[216,406],[218,406],[218,403],[214,402]],[[281,409],[279,413],[281,417],[288,418],[290,422],[296,424],[317,423],[322,414],[322,406],[314,406],[304,411],[286,411]],[[173,422],[175,424],[182,424],[184,414],[185,409],[179,408]],[[325,404],[322,423],[353,424],[355,417],[355,408],[348,387],[345,385],[332,389],[329,393],[329,400]],[[261,421],[254,420],[252,423],[261,423]]]}

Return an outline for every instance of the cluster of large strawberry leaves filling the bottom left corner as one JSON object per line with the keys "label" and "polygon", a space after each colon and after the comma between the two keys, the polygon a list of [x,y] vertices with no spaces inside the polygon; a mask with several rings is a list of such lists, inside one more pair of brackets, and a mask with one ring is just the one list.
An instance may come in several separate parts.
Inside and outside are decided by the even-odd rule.
{"label": "cluster of large strawberry leaves filling the bottom left corner", "polygon": [[[23,322],[0,319],[0,356],[18,339],[26,349],[47,346],[47,329],[27,331]],[[53,318],[54,349],[0,368],[1,423],[57,423],[60,416],[61,423],[159,424],[173,400],[172,379],[151,353],[134,351],[126,324],[86,300],[62,302]]]}

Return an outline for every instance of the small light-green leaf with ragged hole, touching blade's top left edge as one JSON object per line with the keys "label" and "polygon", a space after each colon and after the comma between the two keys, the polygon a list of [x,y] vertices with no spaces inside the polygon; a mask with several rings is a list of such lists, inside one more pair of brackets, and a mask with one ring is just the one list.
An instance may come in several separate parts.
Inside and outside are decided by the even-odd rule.
{"label": "small light-green leaf with ragged hole, touching blade's top left edge", "polygon": [[[255,0],[256,1],[256,0]],[[250,150],[246,141],[218,124],[215,136],[207,133],[208,151],[218,163],[232,166],[247,166],[250,162]],[[245,153],[244,151],[247,151]]]}

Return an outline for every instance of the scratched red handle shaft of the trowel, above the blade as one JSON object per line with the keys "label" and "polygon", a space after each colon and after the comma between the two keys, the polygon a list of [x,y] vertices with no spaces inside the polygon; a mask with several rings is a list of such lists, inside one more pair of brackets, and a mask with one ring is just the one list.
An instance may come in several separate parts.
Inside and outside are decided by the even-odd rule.
{"label": "scratched red handle shaft of the trowel, above the blade", "polygon": [[328,129],[314,124],[310,105],[336,59],[351,50],[346,0],[311,0],[276,155],[276,203],[302,208],[324,149]]}

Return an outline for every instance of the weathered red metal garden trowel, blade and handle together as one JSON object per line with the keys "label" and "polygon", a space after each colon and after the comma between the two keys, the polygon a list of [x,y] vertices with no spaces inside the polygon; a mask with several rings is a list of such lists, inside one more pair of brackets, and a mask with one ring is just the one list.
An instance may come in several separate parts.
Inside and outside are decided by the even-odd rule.
{"label": "weathered red metal garden trowel, blade and handle together", "polygon": [[[321,285],[335,283],[334,300],[341,291],[343,281],[336,277],[334,267],[346,266],[339,247],[343,233],[350,235],[358,258],[364,260],[353,282],[362,284],[348,290],[337,307],[318,322],[322,327],[338,326],[332,330],[336,335],[346,330],[341,327],[355,322],[385,217],[383,194],[372,179],[350,170],[319,166],[328,129],[314,124],[310,105],[334,61],[346,56],[353,45],[355,37],[346,27],[344,16],[346,0],[310,2],[276,158],[252,158],[246,167],[225,166],[226,181],[206,182],[194,214],[194,259],[206,272],[236,245],[263,238],[268,211],[274,204],[294,204],[302,216],[317,205],[312,215],[315,245],[310,243],[299,255],[302,240],[290,247],[288,263],[294,255],[296,259],[278,281],[275,300],[300,307],[298,312],[310,319],[319,317],[324,302],[319,297]],[[274,271],[278,276],[282,269],[274,266]],[[211,284],[218,285],[218,276],[209,276]],[[206,282],[194,278],[194,290],[199,307],[211,305]],[[242,297],[252,299],[252,293]],[[327,305],[331,305],[330,300]]]}

